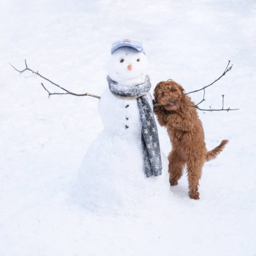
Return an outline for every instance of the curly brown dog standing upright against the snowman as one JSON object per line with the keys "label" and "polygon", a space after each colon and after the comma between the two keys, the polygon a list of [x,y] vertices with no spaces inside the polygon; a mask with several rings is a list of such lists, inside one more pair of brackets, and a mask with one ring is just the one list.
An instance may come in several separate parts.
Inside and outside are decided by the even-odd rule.
{"label": "curly brown dog standing upright against the snowman", "polygon": [[[154,113],[161,126],[167,128],[172,142],[169,159],[169,181],[172,186],[178,184],[183,168],[187,165],[189,197],[199,199],[198,182],[205,161],[215,159],[223,150],[228,140],[207,152],[202,123],[190,97],[184,95],[181,85],[174,81],[159,82],[154,90]],[[186,104],[186,105],[182,105]]]}

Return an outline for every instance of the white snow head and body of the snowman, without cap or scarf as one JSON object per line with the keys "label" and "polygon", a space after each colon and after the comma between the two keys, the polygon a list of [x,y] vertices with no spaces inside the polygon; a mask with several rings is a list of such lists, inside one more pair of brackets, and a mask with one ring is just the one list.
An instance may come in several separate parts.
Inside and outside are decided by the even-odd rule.
{"label": "white snow head and body of the snowman, without cap or scarf", "polygon": [[[147,74],[146,56],[131,47],[122,47],[112,54],[108,74],[120,86],[141,84]],[[147,97],[153,110],[149,92]],[[92,211],[113,210],[134,203],[141,205],[166,194],[168,160],[163,153],[162,174],[148,178],[144,174],[137,99],[117,97],[107,87],[98,108],[104,129],[80,166],[76,184],[79,202]]]}

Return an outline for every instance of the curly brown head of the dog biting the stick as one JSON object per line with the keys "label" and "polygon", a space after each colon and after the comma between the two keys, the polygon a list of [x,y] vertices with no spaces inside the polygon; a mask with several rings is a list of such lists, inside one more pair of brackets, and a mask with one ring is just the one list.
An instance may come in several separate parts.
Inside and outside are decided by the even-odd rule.
{"label": "curly brown head of the dog biting the stick", "polygon": [[177,110],[179,105],[175,102],[181,102],[183,94],[182,86],[172,80],[159,82],[154,90],[155,102],[161,104],[166,110]]}

